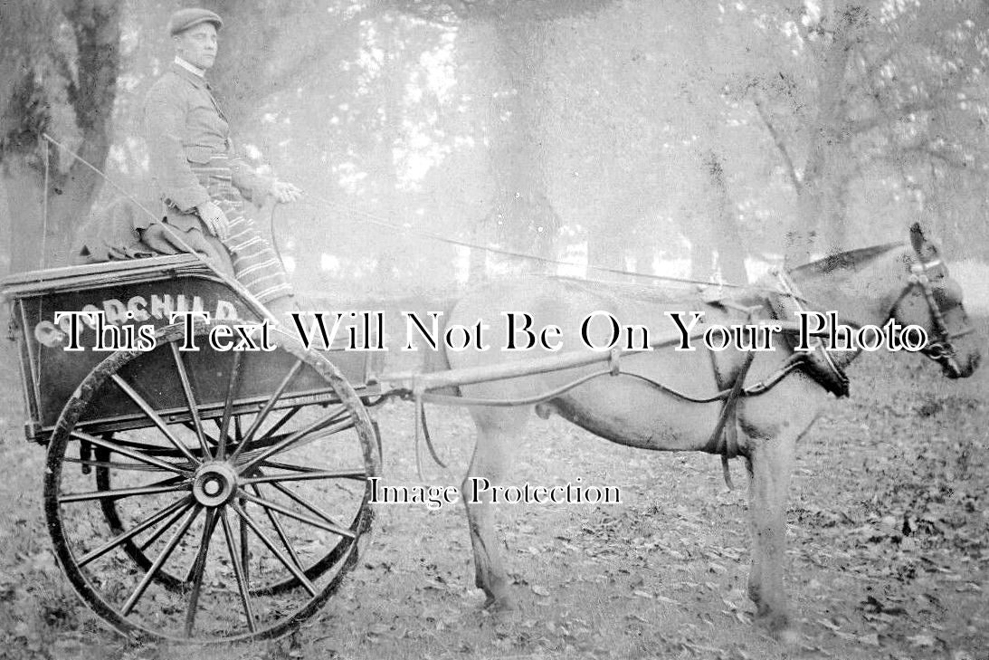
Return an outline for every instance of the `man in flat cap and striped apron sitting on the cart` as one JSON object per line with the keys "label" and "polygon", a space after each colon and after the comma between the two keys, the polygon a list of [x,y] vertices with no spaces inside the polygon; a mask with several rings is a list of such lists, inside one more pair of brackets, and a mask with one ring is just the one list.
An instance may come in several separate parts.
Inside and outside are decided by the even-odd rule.
{"label": "man in flat cap and striped apron sitting on the cart", "polygon": [[215,264],[223,268],[228,255],[234,277],[283,317],[292,309],[292,287],[271,244],[245,215],[244,202],[261,206],[268,195],[292,202],[300,190],[259,174],[231,148],[224,112],[205,78],[222,26],[217,14],[193,8],[168,22],[175,59],[144,107],[151,172],[165,210],[161,223],[143,228],[142,239],[172,253],[192,246],[211,254],[199,246],[213,243]]}

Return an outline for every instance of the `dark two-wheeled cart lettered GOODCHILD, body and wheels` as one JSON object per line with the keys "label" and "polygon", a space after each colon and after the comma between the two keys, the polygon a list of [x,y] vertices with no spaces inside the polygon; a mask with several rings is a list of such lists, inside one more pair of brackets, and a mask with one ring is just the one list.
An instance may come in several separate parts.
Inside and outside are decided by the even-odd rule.
{"label": "dark two-wheeled cart lettered GOODCHILD, body and wheels", "polygon": [[[29,439],[47,445],[45,515],[86,604],[119,630],[267,637],[315,612],[356,562],[380,471],[367,353],[180,350],[173,312],[221,322],[265,310],[190,255],[5,280]],[[66,350],[56,312],[153,325],[153,350]],[[197,327],[199,331],[205,328]],[[329,355],[331,359],[327,359]]]}

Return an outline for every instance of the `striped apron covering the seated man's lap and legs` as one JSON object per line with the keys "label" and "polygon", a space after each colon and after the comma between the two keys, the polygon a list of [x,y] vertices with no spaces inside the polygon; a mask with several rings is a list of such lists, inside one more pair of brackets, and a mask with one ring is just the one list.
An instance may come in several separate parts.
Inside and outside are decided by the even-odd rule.
{"label": "striped apron covering the seated man's lap and legs", "polygon": [[292,285],[268,239],[244,215],[244,199],[233,186],[228,158],[214,154],[206,164],[190,162],[210,198],[225,213],[229,235],[222,239],[230,252],[233,274],[262,303],[292,294]]}

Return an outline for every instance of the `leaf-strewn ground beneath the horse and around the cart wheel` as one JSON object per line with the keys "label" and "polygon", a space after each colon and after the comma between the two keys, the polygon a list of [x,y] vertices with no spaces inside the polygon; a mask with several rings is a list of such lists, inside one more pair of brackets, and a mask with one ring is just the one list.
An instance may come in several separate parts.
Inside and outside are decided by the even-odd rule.
{"label": "leaf-strewn ground beneath the horse and around the cart wheel", "polygon": [[[985,319],[976,319],[985,328]],[[984,342],[983,342],[984,345]],[[989,658],[989,368],[959,382],[917,356],[866,355],[852,399],[799,446],[789,587],[802,640],[752,623],[745,493],[706,455],[609,444],[554,419],[519,438],[518,483],[614,485],[622,504],[505,506],[516,612],[481,611],[462,509],[382,507],[375,541],[289,639],[224,648],[130,645],[77,601],[42,514],[44,449],[21,431],[12,348],[0,382],[0,657],[10,658]],[[468,415],[430,411],[459,484]],[[391,483],[415,484],[412,408],[378,410]],[[744,483],[741,463],[732,465]]]}

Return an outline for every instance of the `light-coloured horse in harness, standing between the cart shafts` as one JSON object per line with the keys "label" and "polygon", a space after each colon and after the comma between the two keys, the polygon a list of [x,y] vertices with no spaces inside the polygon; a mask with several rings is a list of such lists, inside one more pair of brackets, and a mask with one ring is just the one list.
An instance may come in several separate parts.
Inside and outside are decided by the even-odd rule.
{"label": "light-coloured horse in harness, standing between the cart shafts", "polygon": [[[979,353],[974,347],[956,353],[952,346],[953,340],[968,331],[961,290],[948,278],[937,248],[916,225],[910,243],[837,254],[796,268],[786,281],[793,287],[791,293],[797,295],[773,294],[770,289],[777,283],[765,280],[727,304],[705,303],[697,295],[682,292],[564,279],[494,283],[457,301],[445,321],[447,327],[473,326],[479,319],[500,321],[500,312],[526,312],[533,318],[533,328],[554,324],[563,330],[557,339],[564,350],[577,350],[584,346],[581,323],[594,311],[606,311],[623,324],[675,330],[665,313],[703,310],[705,322],[727,326],[746,321],[740,310],[750,306],[770,318],[805,307],[838,311],[840,318],[854,327],[882,326],[889,319],[904,326],[919,325],[929,336],[923,352],[937,360],[950,378],[968,376],[978,364]],[[555,412],[620,444],[743,456],[749,474],[753,543],[749,596],[757,605],[759,620],[778,638],[792,639],[795,632],[783,590],[783,573],[786,492],[794,447],[818,415],[826,389],[844,394],[842,369],[858,352],[827,353],[832,358],[829,364],[819,347],[801,367],[786,371],[781,365],[794,362],[791,336],[777,333],[772,342],[773,349],[764,352],[714,352],[700,343],[693,351],[664,347],[629,354],[621,358],[621,375],[592,378],[545,401],[537,411],[541,416]],[[525,361],[542,355],[537,349],[509,353],[494,347],[483,352],[447,350],[443,357],[447,368],[460,369],[490,368],[507,360]],[[746,364],[749,356],[753,357],[751,365]],[[459,396],[531,399],[565,388],[595,369],[600,365],[462,385]],[[734,410],[725,411],[724,395],[736,384],[739,387],[734,389],[740,396],[734,401]],[[764,393],[758,394],[763,389]],[[694,403],[676,392],[699,398],[721,392],[722,397]],[[471,502],[468,495],[475,479],[487,479],[493,486],[513,485],[510,459],[531,410],[531,406],[470,409],[478,436],[461,492],[465,494],[477,585],[487,594],[489,607],[511,606],[509,582],[494,531],[491,491],[483,493],[480,502]]]}

